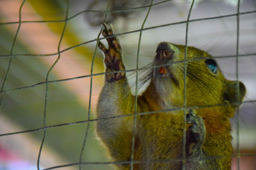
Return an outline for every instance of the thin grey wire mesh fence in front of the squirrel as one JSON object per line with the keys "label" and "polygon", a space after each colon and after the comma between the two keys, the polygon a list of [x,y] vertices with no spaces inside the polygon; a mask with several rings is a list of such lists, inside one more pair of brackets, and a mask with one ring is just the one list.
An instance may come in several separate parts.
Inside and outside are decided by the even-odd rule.
{"label": "thin grey wire mesh fence in front of the squirrel", "polygon": [[[236,16],[237,17],[237,42],[236,42],[236,55],[222,55],[222,56],[214,56],[215,58],[236,58],[236,80],[239,80],[239,67],[238,67],[238,64],[239,64],[239,58],[241,57],[248,57],[248,56],[253,56],[253,55],[256,55],[256,52],[255,53],[246,53],[246,54],[240,54],[239,53],[239,17],[241,15],[248,15],[248,14],[252,14],[252,13],[256,13],[256,10],[253,10],[253,11],[245,11],[245,12],[240,12],[239,10],[239,6],[240,6],[240,1],[238,0],[237,2],[237,13],[234,13],[234,14],[230,14],[230,15],[220,15],[220,16],[217,16],[217,17],[205,17],[205,18],[198,18],[198,19],[192,19],[190,20],[189,16],[191,14],[191,11],[192,11],[192,8],[193,8],[193,4],[194,4],[194,0],[192,1],[191,3],[191,7],[190,7],[190,10],[189,10],[189,13],[188,13],[188,20],[184,20],[184,21],[180,21],[180,22],[173,22],[173,23],[168,23],[168,24],[163,24],[163,25],[156,25],[154,27],[144,27],[145,25],[145,22],[147,21],[147,17],[150,13],[150,10],[152,8],[152,6],[157,6],[159,4],[163,4],[163,3],[167,3],[168,1],[171,1],[171,0],[167,0],[167,1],[161,1],[159,3],[154,3],[154,0],[152,0],[150,2],[150,4],[146,5],[146,6],[140,6],[140,7],[136,7],[136,8],[129,8],[129,9],[125,9],[125,10],[116,10],[116,11],[111,11],[109,10],[109,6],[106,7],[106,10],[104,11],[100,11],[100,10],[84,10],[84,11],[81,11],[79,13],[76,13],[76,15],[72,15],[71,17],[68,17],[68,10],[69,10],[69,0],[67,0],[67,10],[66,10],[66,13],[65,13],[65,19],[64,20],[33,20],[33,21],[23,21],[22,20],[22,6],[24,5],[24,3],[26,3],[26,0],[22,1],[22,4],[20,4],[20,9],[19,9],[19,22],[4,22],[4,23],[0,23],[0,25],[10,25],[10,24],[18,24],[18,28],[17,28],[17,31],[16,31],[16,34],[15,34],[15,38],[13,39],[13,43],[12,43],[12,49],[11,49],[11,52],[10,52],[10,55],[0,55],[0,57],[7,57],[7,58],[10,58],[10,61],[9,61],[9,64],[8,64],[8,69],[6,71],[6,74],[5,74],[5,77],[4,77],[4,81],[1,85],[1,91],[0,91],[0,94],[1,94],[1,99],[0,99],[0,110],[1,110],[1,107],[2,107],[2,103],[3,103],[3,100],[4,100],[4,97],[3,95],[4,94],[8,94],[8,92],[15,92],[15,91],[18,91],[18,90],[22,90],[22,89],[31,89],[31,88],[34,88],[34,87],[37,87],[37,86],[40,86],[40,85],[45,85],[45,103],[44,103],[44,118],[43,118],[43,126],[40,127],[40,128],[36,128],[36,129],[29,129],[29,130],[26,130],[26,131],[17,131],[17,132],[9,132],[9,133],[4,133],[4,134],[0,134],[0,137],[3,137],[3,136],[11,136],[11,135],[17,135],[17,134],[24,134],[24,133],[28,133],[28,132],[35,132],[35,131],[44,131],[44,134],[42,136],[42,143],[40,145],[40,150],[39,150],[39,153],[38,153],[38,161],[37,161],[37,168],[40,169],[40,155],[41,155],[41,152],[43,150],[43,146],[44,146],[44,141],[45,141],[45,138],[46,138],[46,134],[47,134],[47,130],[48,129],[52,129],[52,128],[55,128],[55,127],[63,127],[63,126],[69,126],[69,125],[74,125],[74,124],[87,124],[87,128],[86,128],[86,131],[85,131],[85,134],[84,134],[84,140],[83,140],[83,146],[81,148],[81,153],[79,155],[79,162],[75,162],[74,164],[65,164],[65,165],[60,165],[60,166],[54,166],[54,167],[49,167],[49,168],[46,168],[46,169],[58,169],[58,168],[61,168],[61,167],[68,167],[68,166],[77,166],[79,165],[79,169],[81,169],[81,165],[83,164],[115,164],[115,165],[118,165],[118,164],[130,164],[131,165],[131,169],[132,169],[132,165],[133,164],[142,164],[142,163],[145,163],[147,161],[136,161],[136,160],[133,160],[133,155],[134,155],[134,140],[135,140],[135,137],[134,137],[134,134],[135,134],[135,128],[136,128],[136,117],[138,117],[138,115],[148,115],[148,114],[153,114],[153,113],[162,113],[162,112],[167,112],[167,111],[177,111],[177,110],[183,110],[184,111],[184,136],[183,136],[183,148],[182,148],[182,155],[184,155],[184,157],[182,157],[182,159],[175,159],[175,160],[155,160],[155,161],[150,161],[149,163],[152,163],[152,162],[180,162],[182,161],[182,163],[186,163],[186,157],[185,157],[185,153],[186,153],[186,150],[185,150],[185,143],[186,143],[186,111],[190,110],[190,109],[196,109],[196,108],[202,108],[202,107],[211,107],[211,106],[224,106],[225,104],[218,104],[218,105],[208,105],[208,106],[197,106],[197,107],[187,107],[186,106],[186,74],[185,77],[184,77],[184,104],[183,104],[183,108],[175,108],[175,109],[169,109],[169,110],[158,110],[158,111],[150,111],[150,112],[144,112],[144,113],[137,113],[137,100],[138,100],[138,71],[140,70],[143,70],[143,69],[152,69],[152,67],[161,67],[161,66],[165,66],[165,65],[160,65],[160,66],[151,66],[151,67],[139,67],[138,66],[138,60],[139,60],[139,56],[140,56],[140,44],[141,44],[141,34],[143,33],[143,31],[147,31],[147,30],[150,30],[150,29],[159,29],[160,27],[169,27],[169,26],[172,26],[172,25],[179,25],[179,24],[186,24],[186,44],[185,44],[185,59],[180,61],[180,62],[184,62],[184,73],[186,73],[186,63],[188,61],[191,61],[191,60],[202,60],[202,58],[197,58],[197,59],[186,59],[186,55],[187,55],[187,46],[188,46],[188,31],[189,31],[189,23],[191,22],[198,22],[198,21],[202,21],[202,20],[216,20],[216,19],[220,19],[220,18],[227,18],[227,17],[234,17]],[[111,3],[111,0],[108,1],[110,4]],[[71,50],[72,48],[76,48],[78,46],[81,46],[81,45],[86,45],[88,43],[93,43],[93,42],[99,42],[99,40],[101,39],[106,39],[106,38],[99,38],[100,34],[97,36],[97,38],[95,39],[92,39],[90,41],[85,41],[83,43],[79,43],[77,45],[74,45],[74,46],[69,46],[68,48],[65,48],[63,50],[60,50],[60,45],[61,45],[61,41],[63,39],[63,35],[65,34],[65,28],[66,28],[66,25],[67,25],[67,22],[68,20],[72,20],[72,18],[76,18],[77,16],[83,14],[83,13],[104,13],[105,14],[105,20],[106,20],[106,16],[109,14],[109,13],[120,13],[120,12],[124,12],[124,11],[134,11],[134,10],[141,10],[141,9],[148,9],[148,12],[147,12],[147,15],[145,16],[145,19],[143,20],[143,24],[141,24],[141,28],[140,29],[137,29],[137,30],[133,30],[133,31],[127,31],[127,32],[122,32],[122,33],[119,33],[119,34],[115,34],[115,36],[121,36],[121,35],[124,35],[124,34],[133,34],[135,32],[140,32],[140,37],[138,39],[138,50],[137,50],[137,57],[136,57],[136,69],[127,69],[125,71],[113,71],[113,72],[108,72],[108,73],[95,73],[93,74],[93,64],[94,64],[94,59],[95,59],[95,56],[96,56],[96,51],[97,51],[97,45],[95,46],[95,50],[93,52],[93,57],[92,57],[92,65],[91,65],[91,72],[90,74],[87,74],[87,75],[83,75],[83,76],[77,76],[77,77],[72,77],[72,78],[65,78],[65,79],[60,79],[60,80],[49,80],[49,74],[51,73],[52,69],[54,68],[54,66],[57,64],[58,60],[60,59],[61,57],[61,53],[63,52],[66,52],[68,50]],[[20,30],[20,26],[22,24],[27,24],[27,23],[56,23],[56,22],[63,22],[64,23],[64,26],[63,26],[63,31],[61,33],[61,37],[60,37],[60,41],[58,43],[58,52],[56,53],[46,53],[46,54],[35,54],[35,53],[24,53],[24,54],[21,54],[21,53],[16,53],[16,54],[13,54],[13,48],[15,46],[15,42],[16,42],[16,39],[17,39],[17,35],[19,34],[19,30]],[[101,32],[101,31],[100,31]],[[113,36],[108,36],[108,38],[110,37],[113,37]],[[45,81],[42,81],[42,82],[39,82],[39,83],[35,83],[33,85],[28,85],[28,86],[25,86],[25,87],[19,87],[19,88],[14,88],[14,89],[4,89],[4,86],[5,86],[5,83],[6,83],[6,80],[8,79],[8,74],[10,72],[10,68],[12,67],[12,59],[13,57],[51,57],[53,55],[58,55],[58,58],[56,59],[56,61],[54,62],[54,64],[52,64],[52,66],[50,67],[49,71],[47,72],[47,76],[45,78]],[[205,57],[204,57],[205,59]],[[177,62],[174,62],[172,64],[175,64]],[[170,64],[168,64],[170,65]],[[93,88],[93,76],[99,76],[99,75],[104,75],[104,74],[111,74],[111,73],[119,73],[119,72],[134,72],[136,71],[136,102],[135,102],[135,113],[134,114],[129,114],[129,115],[118,115],[118,116],[114,116],[114,117],[106,117],[106,118],[90,118],[90,113],[91,113],[91,99],[92,99],[92,88]],[[77,121],[77,122],[69,122],[69,123],[65,123],[65,124],[55,124],[55,125],[46,125],[45,121],[46,121],[46,116],[47,116],[47,93],[48,93],[48,86],[49,86],[49,83],[56,83],[56,82],[60,82],[60,81],[70,81],[70,80],[77,80],[77,79],[81,79],[81,78],[90,78],[90,98],[89,98],[89,103],[88,103],[88,118],[86,120],[81,120],[81,121]],[[238,96],[237,96],[237,99],[239,99],[239,84],[237,83],[237,91],[238,91]],[[243,103],[255,103],[256,100],[249,100],[249,101],[244,101]],[[240,153],[240,147],[239,147],[239,127],[240,127],[240,115],[239,115],[239,109],[237,111],[237,146],[236,146],[236,150],[237,150],[237,153],[232,155],[232,156],[236,156],[237,157],[237,169],[239,169],[239,164],[240,164],[240,157],[241,155],[248,155],[248,156],[255,156],[255,155],[252,155],[252,154],[243,154],[243,153]],[[87,136],[88,136],[88,130],[90,128],[90,122],[97,122],[98,120],[104,120],[104,119],[115,119],[115,118],[121,118],[121,117],[134,117],[134,124],[133,124],[133,137],[132,137],[132,146],[131,146],[131,161],[124,161],[124,162],[83,162],[82,161],[82,157],[83,157],[83,151],[84,151],[84,146],[86,145],[86,139],[87,139]],[[183,166],[183,169],[185,167]]]}

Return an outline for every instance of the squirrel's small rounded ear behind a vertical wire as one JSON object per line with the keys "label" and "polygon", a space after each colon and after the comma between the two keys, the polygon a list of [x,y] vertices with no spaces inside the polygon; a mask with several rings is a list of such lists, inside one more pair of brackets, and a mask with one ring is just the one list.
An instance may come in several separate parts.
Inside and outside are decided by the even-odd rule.
{"label": "squirrel's small rounded ear behind a vertical wire", "polygon": [[[237,83],[239,83],[239,90],[237,89]],[[246,88],[241,81],[227,81],[223,93],[223,102],[230,103],[236,108],[242,103],[245,93]]]}

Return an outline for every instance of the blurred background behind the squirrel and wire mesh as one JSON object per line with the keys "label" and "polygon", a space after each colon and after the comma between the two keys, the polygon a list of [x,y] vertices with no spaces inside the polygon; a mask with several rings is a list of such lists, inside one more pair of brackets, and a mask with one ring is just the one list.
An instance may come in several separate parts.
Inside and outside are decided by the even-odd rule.
{"label": "blurred background behind the squirrel and wire mesh", "polygon": [[[113,24],[116,33],[134,31],[118,36],[124,50],[125,67],[134,69],[140,34],[138,29],[143,23],[151,1],[70,0],[67,6],[67,0],[27,0],[20,11],[22,22],[19,28],[19,8],[22,2],[0,0],[0,85],[3,87],[0,114],[0,169],[36,169],[44,131],[7,134],[39,129],[44,125],[44,82],[47,72],[58,58],[58,45],[65,26],[67,8],[68,20],[60,43],[60,60],[48,78],[48,81],[54,82],[48,83],[45,124],[70,124],[47,129],[40,157],[40,169],[77,163],[88,127],[83,121],[88,120],[91,81],[89,75],[96,45],[95,38],[106,15],[104,11],[111,11],[106,21]],[[183,21],[187,20],[191,1],[155,0],[153,4],[145,28],[154,29],[147,29],[142,33],[140,67],[152,62],[156,46],[161,41],[185,44],[186,23]],[[239,139],[236,135],[238,114],[231,119],[234,138],[232,144],[236,153],[239,142],[242,153],[241,169],[256,169],[256,103],[253,102],[256,99],[256,2],[241,1],[240,12],[239,80],[246,85],[247,102],[239,110]],[[217,18],[190,22],[188,30],[188,45],[196,46],[218,57],[220,68],[229,80],[236,80],[236,59],[232,57],[236,56],[237,17],[232,15],[236,13],[236,0],[196,1],[191,12],[191,20]],[[232,16],[218,18],[223,15]],[[10,71],[4,81],[11,58]],[[102,61],[102,53],[97,49],[93,74],[104,72]],[[128,73],[132,88],[135,87],[135,75]],[[91,119],[96,118],[95,108],[103,77],[102,74],[92,77]],[[79,121],[82,123],[72,124]],[[109,161],[95,136],[95,121],[90,122],[89,127],[82,153],[83,162]],[[79,166],[75,165],[60,169],[78,168]],[[113,169],[106,164],[84,164],[82,168]],[[232,161],[232,169],[236,169],[236,157]]]}

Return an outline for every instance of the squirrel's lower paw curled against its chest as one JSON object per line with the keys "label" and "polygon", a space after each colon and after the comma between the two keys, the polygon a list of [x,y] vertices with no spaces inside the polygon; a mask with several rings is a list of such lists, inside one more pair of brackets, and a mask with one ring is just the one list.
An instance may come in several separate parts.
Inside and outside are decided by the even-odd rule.
{"label": "squirrel's lower paw curled against its chest", "polygon": [[187,123],[191,125],[186,132],[186,153],[189,157],[196,157],[202,152],[202,144],[205,140],[204,120],[196,115],[195,110],[189,110]]}

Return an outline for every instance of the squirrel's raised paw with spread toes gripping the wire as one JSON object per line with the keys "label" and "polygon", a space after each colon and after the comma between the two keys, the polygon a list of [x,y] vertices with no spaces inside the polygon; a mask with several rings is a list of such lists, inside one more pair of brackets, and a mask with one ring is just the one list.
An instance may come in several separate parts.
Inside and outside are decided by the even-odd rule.
{"label": "squirrel's raised paw with spread toes gripping the wire", "polygon": [[[103,24],[102,35],[104,37],[113,36],[113,29],[111,24]],[[99,48],[104,52],[106,72],[123,71],[125,70],[122,62],[122,47],[116,36],[106,38],[108,41],[108,48],[99,41]],[[106,80],[111,83],[125,77],[125,72],[106,74]]]}

